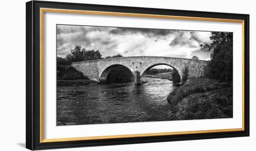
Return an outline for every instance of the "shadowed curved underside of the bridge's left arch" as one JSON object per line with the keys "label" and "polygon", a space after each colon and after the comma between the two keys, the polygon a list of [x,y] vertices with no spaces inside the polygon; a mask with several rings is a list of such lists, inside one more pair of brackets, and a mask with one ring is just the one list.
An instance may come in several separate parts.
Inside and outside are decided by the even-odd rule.
{"label": "shadowed curved underside of the bridge's left arch", "polygon": [[134,74],[127,66],[122,65],[122,64],[113,64],[103,70],[103,72],[101,73],[101,76],[100,76],[100,82],[107,83],[109,80],[111,80],[111,79],[108,79],[109,78],[108,76],[109,76],[109,73],[113,70],[117,74],[118,74],[117,70],[121,70],[121,72],[125,71],[127,73],[127,75],[125,75],[125,76],[128,76],[130,79],[134,79]]}

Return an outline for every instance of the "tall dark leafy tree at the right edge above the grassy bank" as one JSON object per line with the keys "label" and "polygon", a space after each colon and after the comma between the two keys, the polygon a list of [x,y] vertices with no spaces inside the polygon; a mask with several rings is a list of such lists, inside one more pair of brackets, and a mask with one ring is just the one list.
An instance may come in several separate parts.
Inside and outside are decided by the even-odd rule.
{"label": "tall dark leafy tree at the right edge above the grassy bank", "polygon": [[212,32],[210,62],[204,75],[221,81],[233,80],[233,33]]}

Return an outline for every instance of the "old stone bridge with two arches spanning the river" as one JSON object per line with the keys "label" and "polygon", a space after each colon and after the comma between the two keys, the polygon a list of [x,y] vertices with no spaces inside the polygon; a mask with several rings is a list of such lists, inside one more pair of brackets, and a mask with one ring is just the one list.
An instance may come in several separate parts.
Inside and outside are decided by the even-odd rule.
{"label": "old stone bridge with two arches spanning the river", "polygon": [[203,68],[208,61],[193,60],[176,57],[151,57],[151,56],[134,56],[134,57],[116,57],[108,59],[90,60],[74,62],[72,66],[81,71],[89,79],[105,83],[108,81],[108,73],[116,66],[125,66],[135,77],[135,84],[142,84],[142,76],[147,71],[157,65],[168,65],[176,69],[181,77],[183,71],[188,69],[188,78],[203,76]]}

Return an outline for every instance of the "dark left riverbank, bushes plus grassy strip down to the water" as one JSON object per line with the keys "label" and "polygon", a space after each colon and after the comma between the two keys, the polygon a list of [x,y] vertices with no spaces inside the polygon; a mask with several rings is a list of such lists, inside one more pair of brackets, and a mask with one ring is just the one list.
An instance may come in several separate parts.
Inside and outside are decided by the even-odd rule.
{"label": "dark left riverbank, bushes plus grassy strip down to the water", "polygon": [[57,66],[57,86],[78,86],[96,84],[98,82],[89,80],[83,73],[71,66]]}

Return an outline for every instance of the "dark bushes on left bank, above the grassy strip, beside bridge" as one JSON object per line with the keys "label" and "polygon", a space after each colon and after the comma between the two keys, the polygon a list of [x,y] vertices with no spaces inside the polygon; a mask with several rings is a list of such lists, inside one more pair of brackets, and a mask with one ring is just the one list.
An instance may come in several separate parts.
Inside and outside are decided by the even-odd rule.
{"label": "dark bushes on left bank, above the grassy strip, beside bridge", "polygon": [[58,80],[76,80],[88,79],[83,73],[77,71],[71,66],[57,66],[57,79]]}

